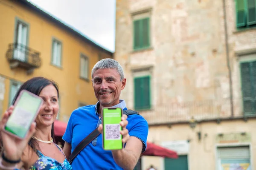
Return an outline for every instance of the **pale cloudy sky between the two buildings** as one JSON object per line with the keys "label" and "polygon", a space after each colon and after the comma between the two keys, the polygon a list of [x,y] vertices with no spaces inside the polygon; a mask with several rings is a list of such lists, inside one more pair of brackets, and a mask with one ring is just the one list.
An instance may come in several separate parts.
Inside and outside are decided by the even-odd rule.
{"label": "pale cloudy sky between the two buildings", "polygon": [[115,51],[116,0],[27,0],[103,48]]}

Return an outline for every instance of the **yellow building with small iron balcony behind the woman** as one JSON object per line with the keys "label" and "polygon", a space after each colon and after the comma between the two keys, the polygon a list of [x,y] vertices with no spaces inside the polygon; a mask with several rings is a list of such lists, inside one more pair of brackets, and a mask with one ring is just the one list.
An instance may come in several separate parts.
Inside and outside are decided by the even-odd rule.
{"label": "yellow building with small iron balcony behind the woman", "polygon": [[111,51],[26,0],[0,0],[0,16],[0,113],[37,76],[58,83],[61,121],[97,102],[90,71],[99,59],[112,58]]}

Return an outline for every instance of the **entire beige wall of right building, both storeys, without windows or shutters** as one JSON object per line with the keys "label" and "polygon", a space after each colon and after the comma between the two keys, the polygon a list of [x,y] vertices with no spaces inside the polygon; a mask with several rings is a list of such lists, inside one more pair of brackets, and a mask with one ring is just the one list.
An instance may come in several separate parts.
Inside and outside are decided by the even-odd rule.
{"label": "entire beige wall of right building, both storeys, without windows or shutters", "polygon": [[[222,0],[116,0],[116,51],[114,58],[125,69],[122,92],[128,108],[134,108],[137,74],[151,75],[149,111],[140,111],[151,126],[148,141],[188,140],[189,170],[215,170],[218,133],[251,134],[251,156],[256,169],[255,119],[202,122],[194,130],[188,121],[230,118]],[[226,0],[228,47],[233,81],[234,117],[243,116],[239,62],[256,59],[256,28],[236,29],[235,0]],[[150,16],[151,48],[133,50],[133,19]],[[136,15],[134,15],[137,13]],[[245,55],[245,56],[243,56]],[[141,71],[144,70],[144,71]],[[253,115],[255,116],[255,115]],[[183,122],[172,125],[173,122]],[[202,139],[198,141],[197,132]],[[205,137],[205,134],[207,136]],[[143,168],[154,158],[143,159]],[[159,158],[155,158],[157,166]],[[144,169],[143,169],[144,170]]]}

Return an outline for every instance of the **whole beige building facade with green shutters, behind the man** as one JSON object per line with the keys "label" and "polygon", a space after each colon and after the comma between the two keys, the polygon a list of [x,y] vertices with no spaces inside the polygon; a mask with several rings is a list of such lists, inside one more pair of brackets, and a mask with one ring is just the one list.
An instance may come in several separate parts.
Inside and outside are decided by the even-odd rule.
{"label": "whole beige building facade with green shutters, behind the man", "polygon": [[117,0],[114,59],[148,141],[142,169],[256,169],[256,0]]}

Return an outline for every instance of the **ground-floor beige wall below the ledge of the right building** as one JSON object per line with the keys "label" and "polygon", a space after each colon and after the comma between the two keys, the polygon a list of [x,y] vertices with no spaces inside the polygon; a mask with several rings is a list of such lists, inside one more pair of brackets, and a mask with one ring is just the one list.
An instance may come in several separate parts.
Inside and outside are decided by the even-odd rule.
{"label": "ground-floor beige wall below the ledge of the right building", "polygon": [[[252,170],[256,168],[256,119],[250,119],[248,122],[243,120],[224,121],[220,124],[216,122],[208,122],[198,124],[192,129],[187,124],[172,125],[172,127],[160,126],[150,127],[148,141],[162,145],[162,142],[190,140],[188,164],[189,170],[217,170],[216,168],[216,147],[217,146],[233,146],[250,144]],[[201,132],[201,140],[198,140],[197,132]],[[216,135],[218,133],[242,133],[246,132],[251,135],[251,142],[234,142],[218,144]],[[150,164],[156,164],[158,170],[164,170],[164,161],[160,157],[143,156],[142,164],[148,167]]]}

